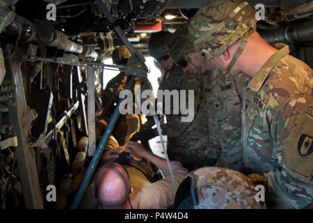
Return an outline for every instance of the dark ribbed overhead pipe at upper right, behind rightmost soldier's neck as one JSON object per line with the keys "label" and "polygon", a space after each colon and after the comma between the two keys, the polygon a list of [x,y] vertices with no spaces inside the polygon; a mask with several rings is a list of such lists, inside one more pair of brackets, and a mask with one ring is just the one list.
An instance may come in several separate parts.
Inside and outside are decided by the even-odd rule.
{"label": "dark ribbed overhead pipe at upper right, behind rightmost soldier's neck", "polygon": [[258,30],[268,43],[298,43],[313,41],[313,20],[294,22],[274,30]]}

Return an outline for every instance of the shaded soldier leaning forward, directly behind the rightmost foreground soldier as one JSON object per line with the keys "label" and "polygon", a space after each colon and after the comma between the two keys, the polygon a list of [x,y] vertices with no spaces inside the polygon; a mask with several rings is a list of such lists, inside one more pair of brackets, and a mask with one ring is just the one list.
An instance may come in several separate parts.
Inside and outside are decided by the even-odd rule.
{"label": "shaded soldier leaning forward, directly behind the rightmost foreground soldier", "polygon": [[[195,56],[195,54],[199,54]],[[190,55],[190,57],[188,56]],[[241,73],[235,77],[224,74],[195,52],[188,38],[188,24],[179,26],[170,44],[170,56],[188,70],[194,66],[201,79],[203,98],[209,128],[209,148],[205,165],[243,170],[241,144],[241,96],[247,75]],[[197,60],[198,59],[198,60]],[[191,65],[189,64],[191,63]],[[214,70],[214,72],[212,72]]]}

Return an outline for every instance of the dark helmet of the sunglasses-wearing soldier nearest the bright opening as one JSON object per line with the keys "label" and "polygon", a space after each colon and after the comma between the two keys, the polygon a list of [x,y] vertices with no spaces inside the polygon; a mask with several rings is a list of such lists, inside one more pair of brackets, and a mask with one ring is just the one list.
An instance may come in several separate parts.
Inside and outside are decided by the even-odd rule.
{"label": "dark helmet of the sunglasses-wearing soldier nearest the bright opening", "polygon": [[169,54],[168,41],[172,34],[169,31],[159,31],[150,36],[148,51],[150,56],[155,59]]}

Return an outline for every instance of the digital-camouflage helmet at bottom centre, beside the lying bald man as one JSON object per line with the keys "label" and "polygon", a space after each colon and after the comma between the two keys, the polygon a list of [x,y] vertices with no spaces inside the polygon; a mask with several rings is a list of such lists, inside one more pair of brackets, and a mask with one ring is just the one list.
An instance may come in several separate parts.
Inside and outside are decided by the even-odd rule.
{"label": "digital-camouflage helmet at bottom centre, beside the lying bald man", "polygon": [[222,167],[202,167],[191,171],[179,185],[176,208],[259,209],[255,185],[245,175]]}

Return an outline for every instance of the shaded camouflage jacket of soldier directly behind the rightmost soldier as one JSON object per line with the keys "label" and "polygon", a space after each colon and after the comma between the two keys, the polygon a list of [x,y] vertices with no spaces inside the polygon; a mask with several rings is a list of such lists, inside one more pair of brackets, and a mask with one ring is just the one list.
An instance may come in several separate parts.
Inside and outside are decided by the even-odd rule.
{"label": "shaded camouflage jacket of soldier directly behind the rightmost soldier", "polygon": [[218,167],[243,171],[241,98],[250,77],[243,73],[232,77],[221,71],[214,72],[217,74],[207,75],[205,79],[209,114],[207,159],[216,160]]}

